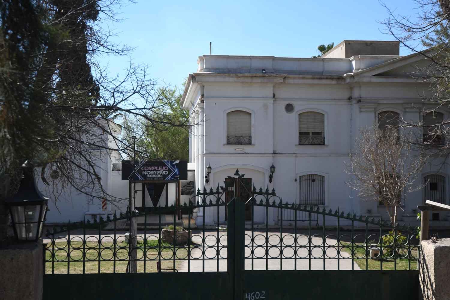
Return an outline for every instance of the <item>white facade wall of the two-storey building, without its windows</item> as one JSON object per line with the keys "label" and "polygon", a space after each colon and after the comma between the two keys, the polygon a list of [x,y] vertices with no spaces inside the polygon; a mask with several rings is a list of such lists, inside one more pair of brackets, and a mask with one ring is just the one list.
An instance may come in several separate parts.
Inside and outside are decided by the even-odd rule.
{"label": "white facade wall of the two-storey building, without its windows", "polygon": [[[371,67],[377,62],[395,58],[379,57],[378,60],[371,60],[370,57],[361,56],[358,59],[359,66]],[[199,149],[193,155],[200,189],[204,185],[202,168],[208,163],[212,166],[212,173],[210,184],[205,185],[207,189],[216,188],[217,184],[223,185],[224,179],[233,175],[236,168],[241,174],[245,173],[245,177],[252,178],[257,188],[261,186],[265,189],[269,180],[269,167],[273,162],[276,171],[269,188],[275,188],[284,202],[297,203],[299,176],[319,174],[325,176],[327,210],[339,209],[346,213],[353,211],[365,215],[370,209],[373,216],[387,217],[385,208],[378,206],[377,201],[359,199],[357,193],[347,186],[346,182],[350,178],[345,173],[344,162],[353,149],[360,128],[376,123],[378,112],[393,110],[407,121],[419,121],[422,105],[420,95],[427,86],[410,81],[402,71],[407,67],[399,69],[399,72],[403,72],[397,74],[400,77],[392,77],[396,73],[391,72],[391,77],[359,77],[355,83],[350,83],[339,76],[307,77],[300,74],[302,68],[318,72],[323,67],[320,66],[322,60],[279,60],[277,67],[286,73],[287,70],[300,73],[292,76],[269,74],[265,77],[243,74],[247,71],[257,73],[257,58],[233,59],[228,56],[203,56],[199,58],[200,72],[194,74],[196,82],[193,85],[196,88],[192,90],[204,91],[205,122],[202,125],[205,135],[191,136],[191,140],[204,140],[204,149]],[[259,63],[264,65],[271,60],[275,65],[276,59],[261,58]],[[328,62],[327,59],[324,61]],[[337,63],[336,70],[340,68],[341,72],[348,72],[342,60],[332,59],[329,62]],[[197,107],[195,100],[198,96],[198,92],[186,96],[194,103],[192,109]],[[285,111],[287,103],[293,104],[292,113]],[[251,145],[226,144],[226,113],[232,110],[244,110],[252,114]],[[298,114],[310,110],[325,115],[325,145],[298,145]],[[436,171],[437,166],[428,169],[423,173]],[[448,175],[447,169],[444,166],[441,172]],[[422,179],[418,180],[421,182]],[[407,194],[401,218],[405,222],[414,222],[414,209],[422,202],[422,191]],[[199,215],[202,216],[202,213]],[[264,212],[256,213],[255,218],[257,222],[264,221]],[[214,209],[208,208],[206,224],[213,224],[216,219]],[[201,218],[199,220],[202,221]],[[270,223],[276,221],[277,217],[273,213]]]}

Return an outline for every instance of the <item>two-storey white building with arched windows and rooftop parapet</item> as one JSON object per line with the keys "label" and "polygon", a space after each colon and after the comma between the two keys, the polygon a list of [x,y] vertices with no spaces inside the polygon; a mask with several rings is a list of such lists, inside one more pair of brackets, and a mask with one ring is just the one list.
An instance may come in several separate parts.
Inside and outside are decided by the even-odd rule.
{"label": "two-storey white building with arched windows and rooftop parapet", "polygon": [[[421,99],[427,85],[410,72],[424,62],[419,55],[398,54],[398,42],[345,40],[321,58],[200,56],[181,99],[193,112],[191,124],[199,123],[189,139],[196,186],[224,185],[238,169],[256,188],[275,188],[289,203],[387,218],[384,207],[358,199],[347,187],[344,161],[359,128],[377,123],[380,114],[422,117],[418,107],[427,105]],[[212,172],[205,184],[208,163]],[[270,183],[272,163],[276,171]],[[432,165],[423,170],[430,184],[407,194],[401,221],[415,222],[424,197],[449,203],[450,170],[444,166],[436,173],[439,164]],[[212,208],[199,211],[197,224],[202,218],[206,224],[217,222]],[[440,222],[432,224],[445,224],[449,215],[433,218]],[[270,210],[268,219],[279,224],[277,210]],[[219,222],[224,220],[221,214]],[[256,207],[254,220],[265,223],[265,210]]]}

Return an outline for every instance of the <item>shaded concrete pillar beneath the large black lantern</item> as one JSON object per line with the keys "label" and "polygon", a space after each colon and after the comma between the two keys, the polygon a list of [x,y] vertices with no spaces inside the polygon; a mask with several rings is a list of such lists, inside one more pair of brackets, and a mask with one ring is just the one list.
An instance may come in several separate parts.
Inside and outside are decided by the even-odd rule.
{"label": "shaded concrete pillar beneath the large black lantern", "polygon": [[0,272],[4,275],[0,280],[1,299],[42,299],[43,255],[42,240],[0,249]]}

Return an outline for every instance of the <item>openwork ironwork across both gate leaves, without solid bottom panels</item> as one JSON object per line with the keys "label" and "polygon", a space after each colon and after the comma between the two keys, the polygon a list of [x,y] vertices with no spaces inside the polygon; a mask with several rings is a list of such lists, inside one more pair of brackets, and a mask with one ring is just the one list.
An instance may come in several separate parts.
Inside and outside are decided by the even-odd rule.
{"label": "openwork ironwork across both gate leaves, without solid bottom panels", "polygon": [[[253,188],[245,193],[249,199],[240,199],[237,189],[198,191],[189,203],[157,210],[153,212],[156,215],[113,216],[96,223],[67,224],[48,232],[46,273],[121,273],[128,272],[132,263],[138,272],[156,272],[157,262],[163,271],[221,272],[227,271],[227,258],[235,258],[230,253],[239,251],[249,270],[417,269],[419,246],[412,227],[392,227],[382,219],[288,204],[268,188]],[[222,199],[225,192],[234,193],[228,203]],[[230,203],[233,211],[242,214],[231,212]],[[249,224],[244,218],[245,206],[252,210]],[[196,226],[192,216],[198,210],[203,216]],[[218,226],[225,220],[225,210],[228,229]],[[176,220],[180,211],[185,216],[183,228],[177,228],[181,226]],[[293,226],[286,228],[286,223],[281,222],[279,228],[274,228],[277,211],[280,219],[286,211],[292,212]],[[298,215],[306,215],[306,222],[298,222]],[[157,222],[148,224],[148,218],[155,216]],[[171,222],[167,222],[167,216]],[[128,237],[121,228],[127,228],[127,222],[135,218],[147,226],[135,237]],[[215,221],[207,224],[206,219]],[[173,227],[166,227],[169,224]],[[150,225],[153,227],[148,228]],[[239,231],[244,234],[236,234]]]}

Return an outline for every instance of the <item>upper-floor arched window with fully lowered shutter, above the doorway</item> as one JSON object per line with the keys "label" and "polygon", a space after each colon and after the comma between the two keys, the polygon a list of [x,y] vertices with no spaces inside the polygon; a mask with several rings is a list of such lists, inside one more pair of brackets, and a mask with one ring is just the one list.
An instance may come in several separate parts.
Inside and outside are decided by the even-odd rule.
{"label": "upper-floor arched window with fully lowered shutter, above the doorway", "polygon": [[235,110],[226,114],[226,143],[252,144],[252,114]]}

